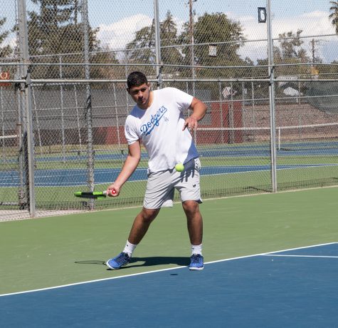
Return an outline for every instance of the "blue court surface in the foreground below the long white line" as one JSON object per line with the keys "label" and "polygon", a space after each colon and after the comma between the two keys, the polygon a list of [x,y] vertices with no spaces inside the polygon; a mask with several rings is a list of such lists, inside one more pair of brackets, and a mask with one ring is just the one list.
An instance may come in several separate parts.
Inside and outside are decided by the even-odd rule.
{"label": "blue court surface in the foreground below the long white line", "polygon": [[1,327],[338,327],[337,242],[117,274],[0,295]]}

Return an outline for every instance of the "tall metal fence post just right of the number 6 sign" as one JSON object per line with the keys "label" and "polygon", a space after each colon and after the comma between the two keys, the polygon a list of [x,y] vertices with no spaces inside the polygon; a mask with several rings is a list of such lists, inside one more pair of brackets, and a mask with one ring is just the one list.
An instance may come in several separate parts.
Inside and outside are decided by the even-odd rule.
{"label": "tall metal fence post just right of the number 6 sign", "polygon": [[273,193],[277,191],[277,165],[276,165],[276,128],[275,128],[275,74],[273,66],[273,33],[271,29],[271,0],[267,0],[268,7],[268,70],[269,70],[269,103],[270,103],[270,159],[271,184]]}

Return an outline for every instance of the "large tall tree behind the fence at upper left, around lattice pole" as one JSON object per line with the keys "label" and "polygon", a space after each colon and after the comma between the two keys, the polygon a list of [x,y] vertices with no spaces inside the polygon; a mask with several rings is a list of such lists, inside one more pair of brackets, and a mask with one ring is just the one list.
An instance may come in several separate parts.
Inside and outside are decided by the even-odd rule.
{"label": "large tall tree behind the fence at upper left, around lattice pole", "polygon": [[[28,13],[28,46],[33,60],[46,63],[82,63],[84,60],[83,24],[78,21],[78,14],[82,10],[79,0],[32,0],[38,4],[39,11]],[[99,29],[89,26],[88,51],[91,63],[117,63],[115,55],[102,52],[100,40],[97,39]],[[35,58],[34,58],[35,57]],[[36,68],[38,75],[48,78],[60,76],[57,66]],[[83,69],[64,66],[63,78],[77,78],[83,76]],[[92,78],[105,76],[103,69],[91,69]]]}

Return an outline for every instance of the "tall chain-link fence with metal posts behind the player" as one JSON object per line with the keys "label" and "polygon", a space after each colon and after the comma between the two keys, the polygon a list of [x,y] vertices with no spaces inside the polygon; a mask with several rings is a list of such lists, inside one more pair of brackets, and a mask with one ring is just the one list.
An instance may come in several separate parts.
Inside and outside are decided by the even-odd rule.
{"label": "tall chain-link fence with metal posts behind the player", "polygon": [[263,2],[0,0],[0,220],[142,205],[145,150],[119,198],[73,197],[120,172],[135,70],[207,104],[203,198],[337,185],[337,11]]}

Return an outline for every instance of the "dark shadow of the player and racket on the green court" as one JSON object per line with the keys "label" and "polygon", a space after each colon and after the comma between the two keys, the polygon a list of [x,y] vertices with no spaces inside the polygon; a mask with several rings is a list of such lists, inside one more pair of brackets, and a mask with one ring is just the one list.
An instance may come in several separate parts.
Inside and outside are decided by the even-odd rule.
{"label": "dark shadow of the player and racket on the green court", "polygon": [[[130,267],[152,267],[156,265],[189,265],[189,257],[169,257],[169,256],[154,256],[154,257],[132,257],[129,264],[122,269],[128,269]],[[102,260],[83,260],[75,261],[78,265],[105,265],[105,261]]]}

